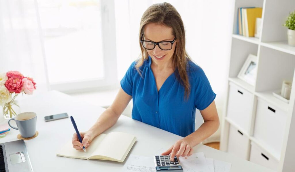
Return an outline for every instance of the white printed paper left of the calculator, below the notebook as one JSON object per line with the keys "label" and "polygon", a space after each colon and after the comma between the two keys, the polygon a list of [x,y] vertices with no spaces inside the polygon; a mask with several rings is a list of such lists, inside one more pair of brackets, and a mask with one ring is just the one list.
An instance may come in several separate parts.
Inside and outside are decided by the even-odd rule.
{"label": "white printed paper left of the calculator, below the notebook", "polygon": [[124,167],[124,172],[155,172],[155,163],[153,157],[139,155],[129,155]]}

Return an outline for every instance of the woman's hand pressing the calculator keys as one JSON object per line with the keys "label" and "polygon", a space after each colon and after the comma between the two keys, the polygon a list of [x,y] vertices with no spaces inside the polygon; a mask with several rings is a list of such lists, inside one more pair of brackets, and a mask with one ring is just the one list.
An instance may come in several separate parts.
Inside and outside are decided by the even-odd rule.
{"label": "woman's hand pressing the calculator keys", "polygon": [[194,153],[194,149],[191,148],[191,145],[188,141],[184,139],[178,140],[174,145],[172,145],[168,150],[162,153],[162,155],[169,155],[170,160],[174,161],[174,156],[177,157],[184,157],[184,156],[190,156]]}

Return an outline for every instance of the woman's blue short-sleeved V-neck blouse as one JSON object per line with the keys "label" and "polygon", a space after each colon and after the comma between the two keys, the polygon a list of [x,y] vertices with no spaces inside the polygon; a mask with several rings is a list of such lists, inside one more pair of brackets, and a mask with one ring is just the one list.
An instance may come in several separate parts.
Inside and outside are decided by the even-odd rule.
{"label": "woman's blue short-sleeved V-neck blouse", "polygon": [[121,80],[122,89],[132,96],[132,118],[160,129],[186,137],[195,131],[196,109],[207,108],[215,99],[204,71],[189,61],[187,74],[191,86],[189,99],[184,99],[184,87],[172,73],[158,91],[151,58],[140,67],[142,77],[134,61]]}

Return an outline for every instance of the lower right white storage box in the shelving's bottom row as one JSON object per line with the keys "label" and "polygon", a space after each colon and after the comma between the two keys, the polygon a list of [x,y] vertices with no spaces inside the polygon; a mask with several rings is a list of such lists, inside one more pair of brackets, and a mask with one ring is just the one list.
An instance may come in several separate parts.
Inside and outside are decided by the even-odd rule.
{"label": "lower right white storage box in the shelving's bottom row", "polygon": [[278,169],[278,161],[274,160],[270,155],[261,150],[258,145],[251,142],[250,160],[253,163],[271,168],[272,170]]}

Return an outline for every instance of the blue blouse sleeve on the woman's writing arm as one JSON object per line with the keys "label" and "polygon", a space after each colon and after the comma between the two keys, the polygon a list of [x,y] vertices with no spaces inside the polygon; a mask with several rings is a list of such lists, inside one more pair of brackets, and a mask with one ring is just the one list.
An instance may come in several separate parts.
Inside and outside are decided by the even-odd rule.
{"label": "blue blouse sleeve on the woman's writing arm", "polygon": [[133,88],[133,76],[135,69],[135,61],[130,65],[127,72],[125,73],[125,76],[121,80],[121,87],[125,91],[125,93],[132,96],[132,88]]}

